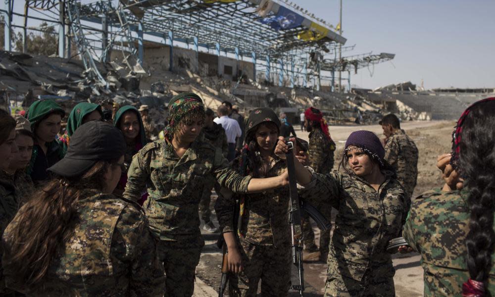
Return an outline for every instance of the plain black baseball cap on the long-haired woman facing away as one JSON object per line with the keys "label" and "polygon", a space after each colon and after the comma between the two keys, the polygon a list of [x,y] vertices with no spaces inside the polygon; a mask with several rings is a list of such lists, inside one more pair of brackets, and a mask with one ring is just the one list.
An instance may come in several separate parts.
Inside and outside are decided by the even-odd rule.
{"label": "plain black baseball cap on the long-haired woman facing away", "polygon": [[69,178],[80,176],[97,161],[119,158],[125,149],[124,135],[119,129],[102,121],[91,121],[77,128],[65,157],[48,171]]}

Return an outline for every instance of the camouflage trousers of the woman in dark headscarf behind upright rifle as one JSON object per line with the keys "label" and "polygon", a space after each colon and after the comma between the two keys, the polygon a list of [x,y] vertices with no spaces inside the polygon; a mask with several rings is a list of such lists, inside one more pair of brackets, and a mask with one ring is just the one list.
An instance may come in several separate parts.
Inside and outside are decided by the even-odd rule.
{"label": "camouflage trousers of the woman in dark headscarf behind upright rifle", "polygon": [[229,273],[229,296],[254,297],[261,279],[261,296],[286,297],[291,285],[291,249],[253,245],[241,240],[244,271]]}

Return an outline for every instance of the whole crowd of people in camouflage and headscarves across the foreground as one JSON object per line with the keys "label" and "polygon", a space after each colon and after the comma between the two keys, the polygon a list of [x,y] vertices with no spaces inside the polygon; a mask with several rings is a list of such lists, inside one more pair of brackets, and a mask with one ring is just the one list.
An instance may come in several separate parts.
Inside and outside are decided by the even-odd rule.
{"label": "whole crowd of people in camouflage and headscarves across the foreground", "polygon": [[337,211],[319,245],[301,222],[305,260],[328,264],[325,296],[395,296],[392,253],[413,250],[426,296],[495,292],[495,98],[461,115],[438,159],[444,187],[416,198],[419,152],[394,114],[380,121],[385,139],[352,132],[334,170],[336,143],[314,107],[299,115],[307,148],[268,107],[245,119],[231,102],[214,111],[181,93],[160,131],[148,112],[83,102],[60,133],[55,101],[0,110],[2,296],[190,297],[201,220],[225,243],[229,296],[256,296],[259,282],[262,296],[288,296],[287,140],[297,144],[298,195],[329,220]]}

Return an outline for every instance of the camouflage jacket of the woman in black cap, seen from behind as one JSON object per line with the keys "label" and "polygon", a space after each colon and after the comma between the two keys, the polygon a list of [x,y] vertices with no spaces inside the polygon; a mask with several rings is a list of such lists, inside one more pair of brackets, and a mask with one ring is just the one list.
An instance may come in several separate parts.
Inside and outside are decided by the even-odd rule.
{"label": "camouflage jacket of the woman in black cap, seen from behind", "polygon": [[[27,288],[11,277],[16,268],[4,256],[7,286],[34,296],[163,296],[163,264],[141,207],[94,190],[82,197],[76,202],[74,233],[52,261],[46,280]],[[15,248],[9,228],[4,244]]]}

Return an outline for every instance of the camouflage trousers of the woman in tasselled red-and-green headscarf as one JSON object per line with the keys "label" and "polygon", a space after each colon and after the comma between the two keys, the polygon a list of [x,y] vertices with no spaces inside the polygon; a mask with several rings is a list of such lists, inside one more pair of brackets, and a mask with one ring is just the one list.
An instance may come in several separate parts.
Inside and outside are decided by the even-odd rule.
{"label": "camouflage trousers of the woman in tasselled red-and-green headscarf", "polygon": [[158,257],[165,268],[165,297],[191,297],[196,266],[204,240],[201,236],[179,241],[160,241]]}

